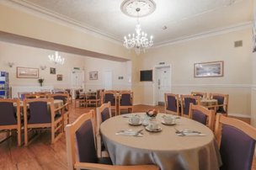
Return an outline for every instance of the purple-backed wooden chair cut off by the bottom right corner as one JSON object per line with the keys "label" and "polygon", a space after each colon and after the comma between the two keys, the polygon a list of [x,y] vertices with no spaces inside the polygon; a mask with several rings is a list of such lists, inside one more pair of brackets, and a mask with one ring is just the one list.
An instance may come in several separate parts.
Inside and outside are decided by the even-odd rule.
{"label": "purple-backed wooden chair cut off by the bottom right corner", "polygon": [[251,170],[256,128],[247,123],[216,115],[216,141],[221,152],[221,170]]}

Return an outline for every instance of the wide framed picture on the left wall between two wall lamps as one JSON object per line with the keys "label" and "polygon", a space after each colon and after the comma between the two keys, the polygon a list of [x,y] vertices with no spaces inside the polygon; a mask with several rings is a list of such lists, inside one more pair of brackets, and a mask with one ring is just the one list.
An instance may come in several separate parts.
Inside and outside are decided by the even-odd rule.
{"label": "wide framed picture on the left wall between two wall lamps", "polygon": [[17,66],[17,77],[18,78],[38,78],[39,69]]}

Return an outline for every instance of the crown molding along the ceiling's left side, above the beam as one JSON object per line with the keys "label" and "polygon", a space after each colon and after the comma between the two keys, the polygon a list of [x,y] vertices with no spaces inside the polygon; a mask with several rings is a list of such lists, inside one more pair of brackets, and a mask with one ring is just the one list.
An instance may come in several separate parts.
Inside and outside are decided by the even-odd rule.
{"label": "crown molding along the ceiling's left side, above the beam", "polygon": [[114,35],[109,35],[109,34],[103,33],[101,30],[99,30],[97,28],[94,28],[87,24],[82,24],[81,22],[78,22],[77,20],[68,18],[64,15],[61,15],[60,13],[54,13],[51,10],[37,6],[34,3],[29,3],[26,0],[0,1],[0,3],[2,3],[3,5],[7,5],[8,7],[11,7],[11,8],[17,8],[25,13],[29,13],[29,14],[38,16],[42,19],[51,20],[54,23],[61,24],[65,27],[77,29],[77,30],[83,31],[87,34],[94,35],[101,39],[109,40],[115,44],[121,45],[120,42],[122,42],[122,40],[116,38]]}

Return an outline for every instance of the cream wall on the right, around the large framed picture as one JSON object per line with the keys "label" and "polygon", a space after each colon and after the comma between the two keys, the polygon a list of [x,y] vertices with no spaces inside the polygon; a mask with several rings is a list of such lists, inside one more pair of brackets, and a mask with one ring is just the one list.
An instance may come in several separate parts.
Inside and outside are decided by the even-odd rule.
{"label": "cream wall on the right, around the large framed picture", "polygon": [[[252,59],[252,29],[242,29],[230,33],[209,36],[198,40],[188,40],[174,45],[163,45],[147,50],[139,56],[141,65],[136,65],[134,77],[141,69],[152,69],[159,62],[172,67],[172,93],[187,94],[191,91],[228,93],[229,113],[250,117]],[[234,48],[234,41],[243,40],[243,46]],[[224,77],[194,77],[194,63],[224,61]],[[133,88],[143,97],[136,103],[153,104],[155,82],[138,82]]]}

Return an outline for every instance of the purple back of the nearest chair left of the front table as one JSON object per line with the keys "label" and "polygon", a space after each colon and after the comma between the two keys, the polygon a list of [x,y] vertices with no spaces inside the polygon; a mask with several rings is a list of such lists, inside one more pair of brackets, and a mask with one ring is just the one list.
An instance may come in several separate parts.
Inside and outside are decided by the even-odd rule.
{"label": "purple back of the nearest chair left of the front table", "polygon": [[[93,114],[94,110],[90,110],[66,126],[68,169],[74,169],[77,162],[97,162]],[[79,161],[76,160],[75,137]]]}

